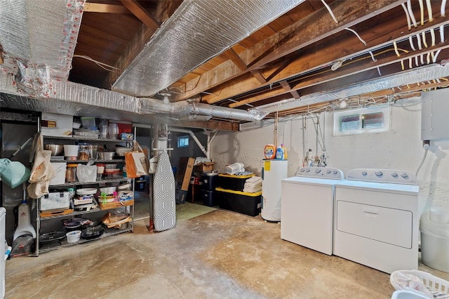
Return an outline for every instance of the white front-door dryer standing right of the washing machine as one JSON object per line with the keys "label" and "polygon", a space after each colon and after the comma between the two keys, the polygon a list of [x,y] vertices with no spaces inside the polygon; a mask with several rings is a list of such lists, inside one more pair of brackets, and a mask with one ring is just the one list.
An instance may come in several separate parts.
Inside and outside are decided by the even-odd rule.
{"label": "white front-door dryer standing right of the washing machine", "polygon": [[416,176],[353,169],[335,184],[334,254],[391,273],[418,267]]}

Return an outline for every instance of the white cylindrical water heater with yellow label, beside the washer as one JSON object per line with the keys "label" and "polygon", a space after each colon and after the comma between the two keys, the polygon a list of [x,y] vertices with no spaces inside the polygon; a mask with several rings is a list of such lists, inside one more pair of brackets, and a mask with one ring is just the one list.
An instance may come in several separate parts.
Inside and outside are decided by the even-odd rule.
{"label": "white cylindrical water heater with yellow label, beside the washer", "polygon": [[287,178],[288,161],[264,159],[260,215],[270,222],[281,221],[281,180]]}

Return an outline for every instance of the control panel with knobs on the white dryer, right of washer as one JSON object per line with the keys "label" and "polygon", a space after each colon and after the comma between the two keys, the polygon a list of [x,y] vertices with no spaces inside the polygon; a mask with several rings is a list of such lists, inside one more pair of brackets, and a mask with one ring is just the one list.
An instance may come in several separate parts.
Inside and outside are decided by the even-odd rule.
{"label": "control panel with knobs on the white dryer, right of washer", "polygon": [[346,179],[407,185],[417,185],[418,183],[416,175],[410,173],[410,171],[394,169],[356,168],[347,173]]}

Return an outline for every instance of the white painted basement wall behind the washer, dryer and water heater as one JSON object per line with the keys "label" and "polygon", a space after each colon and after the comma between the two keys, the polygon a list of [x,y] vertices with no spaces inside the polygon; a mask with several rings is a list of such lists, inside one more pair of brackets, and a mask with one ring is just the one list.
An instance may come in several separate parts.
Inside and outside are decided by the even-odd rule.
{"label": "white painted basement wall behind the washer, dryer and water heater", "polygon": [[[449,117],[449,114],[448,114]],[[344,174],[353,168],[391,168],[415,173],[424,156],[421,141],[420,99],[396,103],[391,109],[391,128],[384,133],[334,136],[333,113],[319,115],[328,154],[328,166]],[[288,176],[295,175],[305,156],[304,148],[316,153],[316,118],[303,117],[279,121],[278,144],[288,150]],[[304,136],[304,141],[303,141]],[[263,128],[236,133],[220,132],[213,140],[211,158],[215,169],[225,172],[234,162],[245,164],[247,171],[261,174],[264,145],[274,143],[274,121]],[[323,151],[318,146],[318,154]],[[420,213],[431,204],[449,204],[449,140],[431,141],[427,158],[418,173]]]}

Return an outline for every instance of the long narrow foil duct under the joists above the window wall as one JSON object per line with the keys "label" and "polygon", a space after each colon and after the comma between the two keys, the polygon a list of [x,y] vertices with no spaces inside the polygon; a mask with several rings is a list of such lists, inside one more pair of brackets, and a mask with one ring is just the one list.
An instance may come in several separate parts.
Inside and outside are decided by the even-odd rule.
{"label": "long narrow foil duct under the joists above the window wall", "polygon": [[407,71],[400,72],[398,74],[362,82],[360,84],[354,84],[323,93],[311,93],[310,95],[304,95],[299,99],[291,98],[288,100],[281,100],[279,102],[262,105],[252,109],[260,109],[263,112],[267,113],[286,111],[288,109],[313,105],[319,102],[328,102],[331,100],[349,98],[354,95],[383,91],[385,89],[394,88],[396,86],[406,86],[407,84],[416,84],[418,82],[429,81],[448,76],[449,64],[426,65],[424,67],[415,67],[414,69],[408,69]]}

